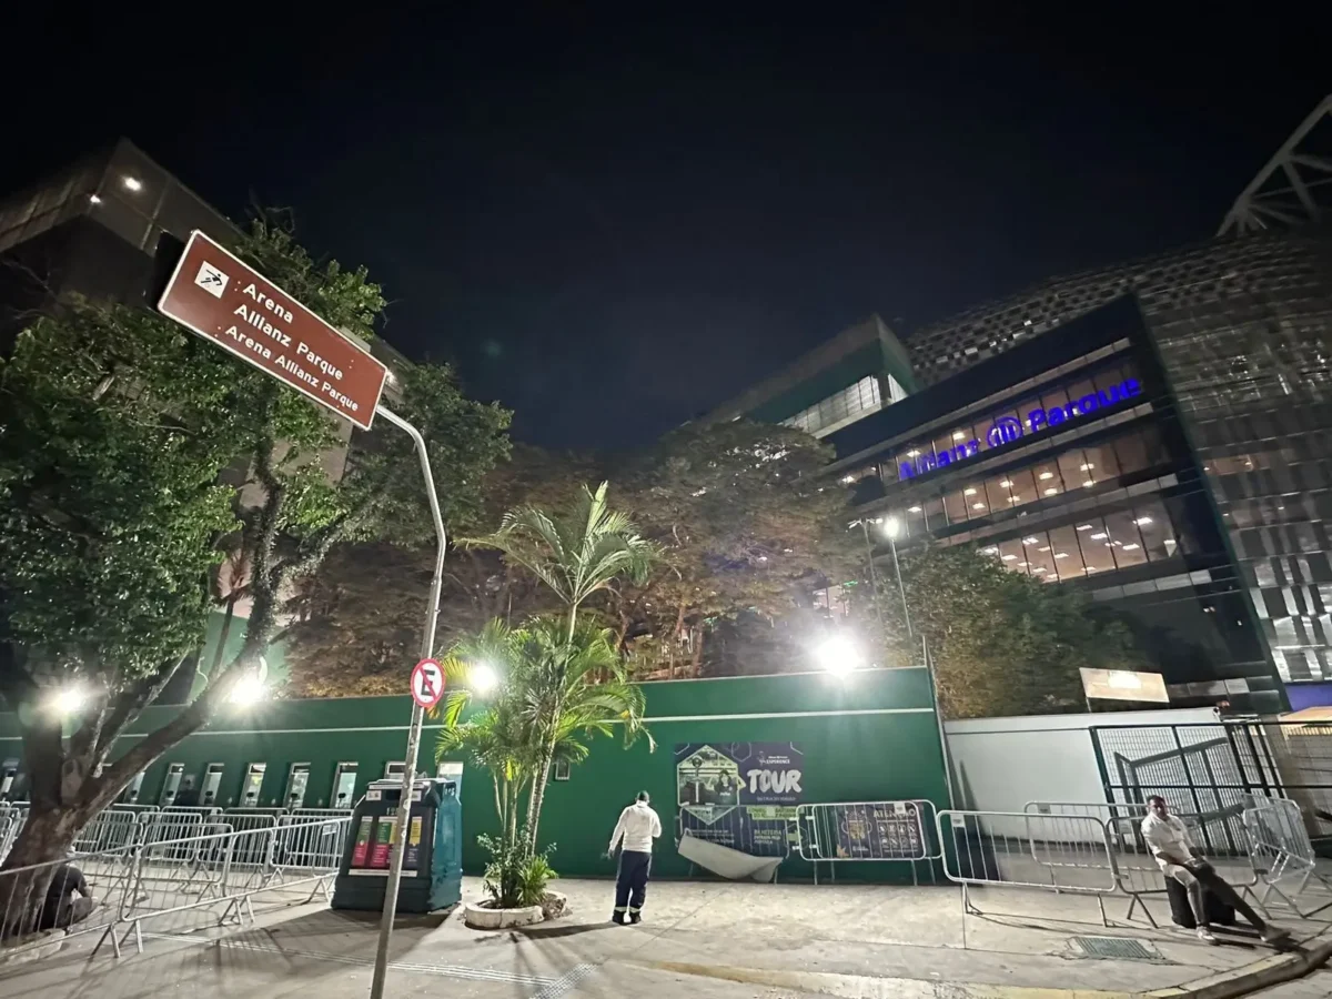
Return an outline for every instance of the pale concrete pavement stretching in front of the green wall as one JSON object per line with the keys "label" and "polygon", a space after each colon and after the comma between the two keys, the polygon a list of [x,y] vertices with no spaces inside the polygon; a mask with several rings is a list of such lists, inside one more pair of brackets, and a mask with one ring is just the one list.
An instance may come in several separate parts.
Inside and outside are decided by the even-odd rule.
{"label": "pale concrete pavement stretching in front of the green wall", "polygon": [[[401,920],[390,994],[1111,999],[1167,990],[1181,999],[1195,992],[1180,987],[1217,972],[1259,963],[1271,975],[1285,960],[1252,936],[1204,946],[1171,926],[1163,902],[1151,903],[1162,928],[1146,920],[1106,928],[1095,898],[1067,894],[976,891],[972,902],[986,915],[964,915],[955,886],[665,882],[649,888],[643,924],[619,927],[607,922],[611,883],[555,887],[569,896],[570,915],[522,931],[469,930],[458,914]],[[465,896],[480,895],[480,883],[468,879]],[[1107,902],[1122,923],[1127,907],[1124,898]],[[370,914],[306,906],[205,935],[176,934],[168,919],[145,926],[143,956],[88,960],[88,946],[71,943],[56,959],[3,970],[0,999],[368,994],[377,930]],[[1332,950],[1332,910],[1309,920],[1275,910],[1273,919],[1300,940],[1323,934]],[[1104,956],[1111,952],[1119,956]],[[1199,999],[1237,994],[1232,979],[1211,983]]]}

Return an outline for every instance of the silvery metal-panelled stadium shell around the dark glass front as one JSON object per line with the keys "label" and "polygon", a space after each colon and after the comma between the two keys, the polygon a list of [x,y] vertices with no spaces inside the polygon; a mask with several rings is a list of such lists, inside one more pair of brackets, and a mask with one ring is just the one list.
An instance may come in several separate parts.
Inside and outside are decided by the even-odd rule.
{"label": "silvery metal-panelled stadium shell around the dark glass front", "polygon": [[1118,296],[1138,298],[1200,489],[1287,683],[1332,679],[1332,236],[1217,240],[1048,281],[907,342],[951,381]]}

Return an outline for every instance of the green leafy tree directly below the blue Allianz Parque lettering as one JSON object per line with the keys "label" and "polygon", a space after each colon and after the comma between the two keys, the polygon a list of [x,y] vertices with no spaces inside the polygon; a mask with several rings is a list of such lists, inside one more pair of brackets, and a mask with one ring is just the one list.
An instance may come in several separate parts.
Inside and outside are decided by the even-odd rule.
{"label": "green leafy tree directly below the blue Allianz Parque lettering", "polygon": [[[902,579],[914,638],[891,565],[880,577],[890,655],[919,662],[926,638],[947,718],[1078,711],[1080,666],[1151,670],[1131,631],[1086,593],[1010,571],[971,545],[902,553]],[[872,607],[856,611],[872,634]]]}

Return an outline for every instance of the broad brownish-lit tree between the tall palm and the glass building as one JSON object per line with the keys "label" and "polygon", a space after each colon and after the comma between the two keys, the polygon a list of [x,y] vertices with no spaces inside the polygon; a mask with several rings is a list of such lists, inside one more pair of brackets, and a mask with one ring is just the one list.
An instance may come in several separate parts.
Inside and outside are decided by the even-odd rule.
{"label": "broad brownish-lit tree between the tall palm and the glass building", "polygon": [[856,578],[863,547],[831,460],[801,430],[741,420],[686,425],[634,462],[625,502],[663,565],[646,585],[617,582],[605,607],[646,666],[697,675],[719,625],[789,622],[814,590]]}

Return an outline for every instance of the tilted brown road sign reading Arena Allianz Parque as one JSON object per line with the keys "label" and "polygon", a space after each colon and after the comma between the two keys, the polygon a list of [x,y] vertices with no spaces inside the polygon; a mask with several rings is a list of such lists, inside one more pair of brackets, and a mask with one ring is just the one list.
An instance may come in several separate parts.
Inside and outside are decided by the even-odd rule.
{"label": "tilted brown road sign reading Arena Allianz Parque", "polygon": [[369,430],[388,369],[194,230],[157,309]]}

